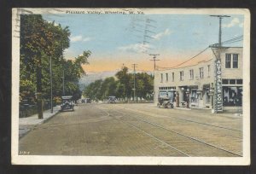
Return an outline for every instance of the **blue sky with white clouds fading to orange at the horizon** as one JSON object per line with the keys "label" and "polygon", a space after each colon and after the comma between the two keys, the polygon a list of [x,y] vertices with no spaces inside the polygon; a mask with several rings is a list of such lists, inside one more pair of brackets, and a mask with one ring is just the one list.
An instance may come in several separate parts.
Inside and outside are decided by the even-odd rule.
{"label": "blue sky with white clouds fading to orange at the horizon", "polygon": [[[218,18],[207,14],[43,14],[44,20],[69,26],[70,47],[64,57],[73,59],[90,50],[85,72],[116,71],[123,65],[153,71],[152,55],[159,67],[173,67],[218,43]],[[222,41],[243,34],[243,15],[222,22]],[[241,42],[224,46],[242,46]],[[196,57],[212,56],[211,49]]]}

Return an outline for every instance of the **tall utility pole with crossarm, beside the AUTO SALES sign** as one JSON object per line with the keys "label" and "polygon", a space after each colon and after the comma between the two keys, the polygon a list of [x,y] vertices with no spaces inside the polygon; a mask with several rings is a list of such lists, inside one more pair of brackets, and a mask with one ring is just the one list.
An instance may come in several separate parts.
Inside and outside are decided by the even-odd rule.
{"label": "tall utility pole with crossarm, beside the AUTO SALES sign", "polygon": [[218,17],[219,29],[218,29],[218,57],[215,63],[215,91],[214,91],[214,113],[223,112],[223,91],[222,91],[222,78],[221,78],[221,22],[225,17],[229,15],[210,15],[212,17]]}

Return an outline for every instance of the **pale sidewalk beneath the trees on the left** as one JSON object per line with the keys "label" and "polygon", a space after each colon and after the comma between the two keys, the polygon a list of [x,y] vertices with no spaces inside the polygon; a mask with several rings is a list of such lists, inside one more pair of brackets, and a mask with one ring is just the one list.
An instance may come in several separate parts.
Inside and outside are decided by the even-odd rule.
{"label": "pale sidewalk beneath the trees on the left", "polygon": [[25,136],[28,131],[31,131],[36,125],[43,124],[46,120],[55,116],[55,114],[59,113],[61,107],[56,106],[53,107],[53,113],[50,113],[50,109],[44,111],[43,117],[44,119],[38,119],[38,114],[34,114],[30,117],[19,118],[19,138]]}

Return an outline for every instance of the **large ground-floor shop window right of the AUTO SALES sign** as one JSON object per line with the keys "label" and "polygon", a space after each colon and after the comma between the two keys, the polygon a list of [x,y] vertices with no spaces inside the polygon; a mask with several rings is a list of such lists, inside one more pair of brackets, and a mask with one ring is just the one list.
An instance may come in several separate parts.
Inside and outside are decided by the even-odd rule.
{"label": "large ground-floor shop window right of the AUTO SALES sign", "polygon": [[241,86],[223,86],[223,105],[224,107],[242,106],[242,87]]}

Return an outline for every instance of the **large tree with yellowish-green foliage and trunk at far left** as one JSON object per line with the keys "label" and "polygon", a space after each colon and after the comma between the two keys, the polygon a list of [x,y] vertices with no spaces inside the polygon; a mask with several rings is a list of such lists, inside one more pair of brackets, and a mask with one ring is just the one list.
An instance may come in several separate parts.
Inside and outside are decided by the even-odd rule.
{"label": "large tree with yellowish-green foliage and trunk at far left", "polygon": [[[23,14],[20,16],[20,84],[26,79],[24,70],[35,74],[38,119],[43,119],[43,68],[44,59],[51,56],[53,59],[59,59],[62,50],[69,47],[70,32],[68,28],[62,29],[61,26],[55,26],[42,18],[40,14]],[[22,89],[21,89],[22,90]],[[22,91],[20,92],[22,94]]]}

